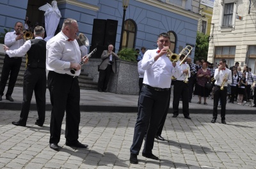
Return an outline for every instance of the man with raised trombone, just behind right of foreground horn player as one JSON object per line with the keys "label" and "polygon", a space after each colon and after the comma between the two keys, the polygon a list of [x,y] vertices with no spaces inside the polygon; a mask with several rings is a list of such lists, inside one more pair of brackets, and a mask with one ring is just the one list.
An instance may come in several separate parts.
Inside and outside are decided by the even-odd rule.
{"label": "man with raised trombone, just behind right of foreground horn player", "polygon": [[[182,53],[182,52],[180,52]],[[188,53],[189,54],[189,53]],[[179,115],[179,101],[180,96],[182,97],[182,113],[186,119],[191,119],[189,117],[189,86],[188,78],[190,77],[189,65],[185,62],[185,57],[188,56],[184,54],[180,55],[180,60],[177,61],[178,70],[173,72],[173,76],[177,78],[173,85],[173,117]]]}

